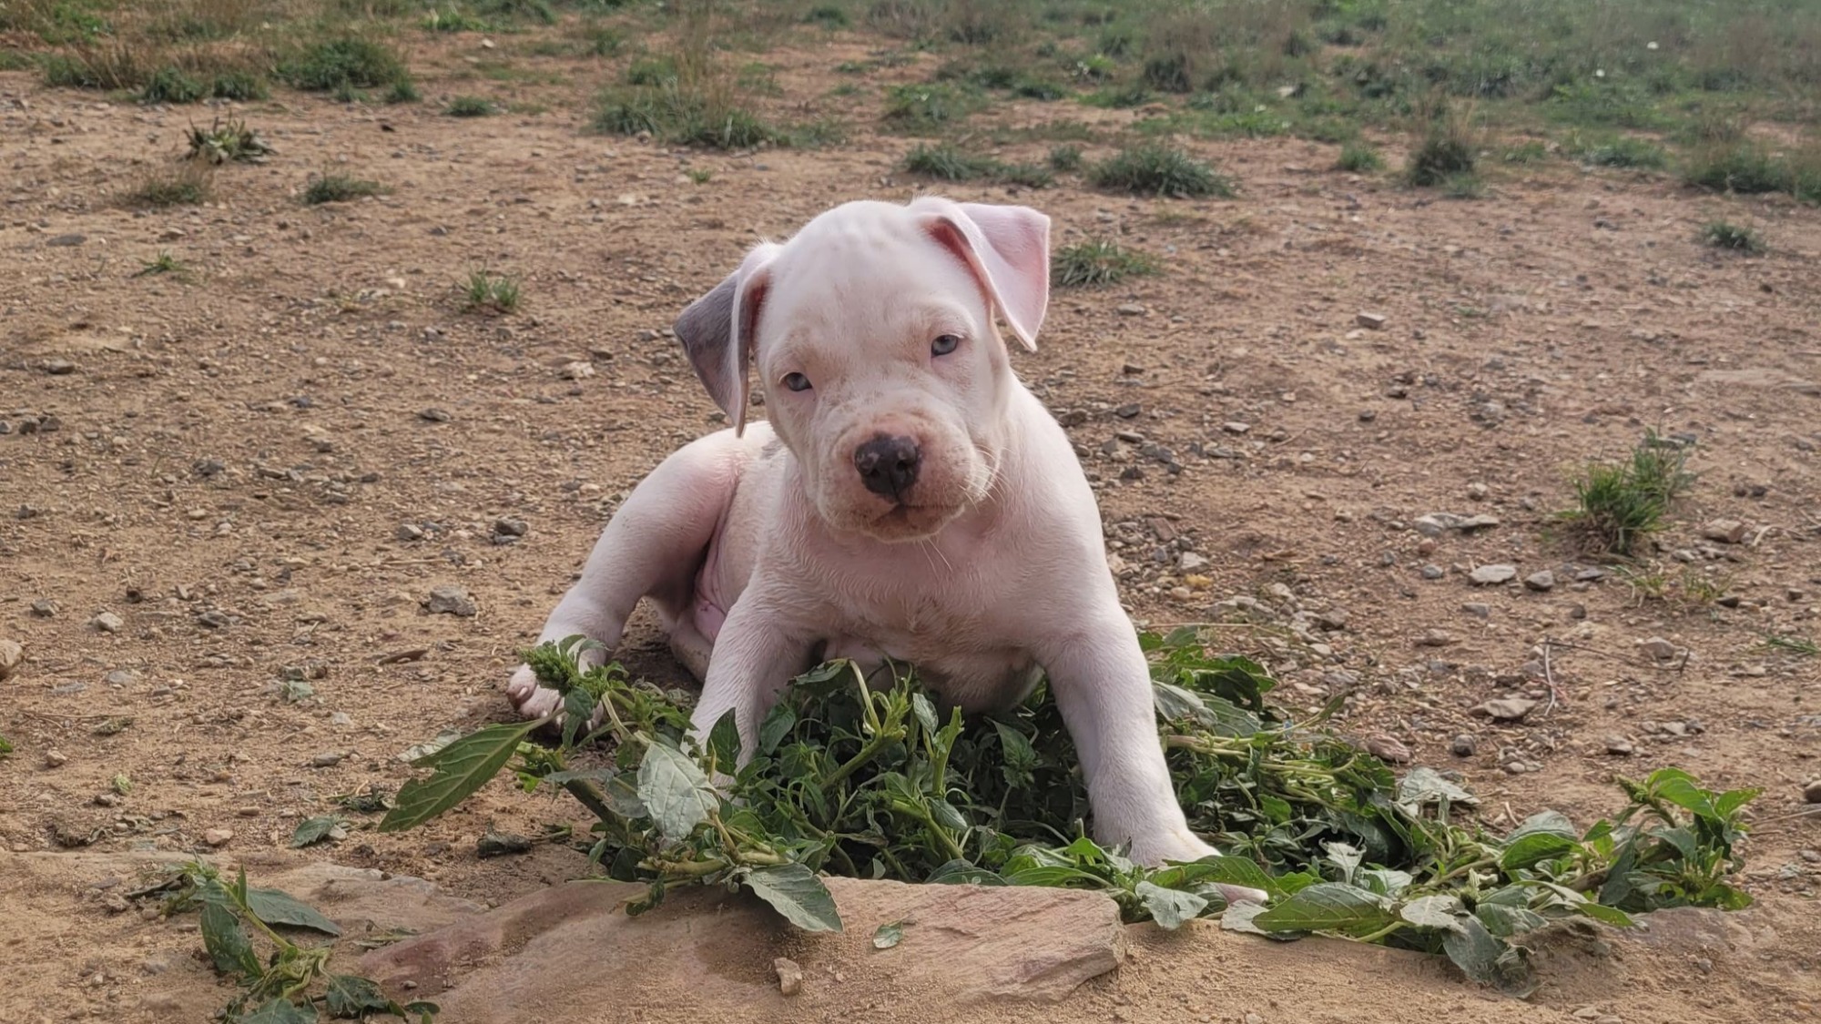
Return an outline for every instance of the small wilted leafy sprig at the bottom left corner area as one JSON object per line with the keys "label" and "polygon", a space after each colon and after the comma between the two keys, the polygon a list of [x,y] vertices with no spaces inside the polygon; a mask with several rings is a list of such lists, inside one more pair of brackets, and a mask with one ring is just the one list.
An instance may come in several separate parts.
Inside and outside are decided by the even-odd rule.
{"label": "small wilted leafy sprig at the bottom left corner area", "polygon": [[[215,867],[188,864],[135,896],[162,896],[164,913],[200,911],[202,947],[215,973],[240,993],[222,1009],[228,1024],[308,1024],[320,1013],[337,1019],[390,1015],[430,1024],[437,1004],[399,1004],[357,975],[328,969],[331,944],[302,946],[282,929],[339,937],[341,929],[308,904],[280,889],[255,889],[246,869],[224,878]],[[259,946],[270,947],[260,953]]]}

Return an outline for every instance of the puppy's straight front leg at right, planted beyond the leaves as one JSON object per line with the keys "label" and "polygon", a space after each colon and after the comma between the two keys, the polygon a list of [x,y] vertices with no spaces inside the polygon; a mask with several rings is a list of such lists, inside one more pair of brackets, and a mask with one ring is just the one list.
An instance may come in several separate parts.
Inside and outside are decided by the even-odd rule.
{"label": "puppy's straight front leg at right, planted beyond the leaves", "polygon": [[[1082,758],[1094,836],[1102,844],[1131,844],[1131,858],[1140,864],[1211,856],[1216,851],[1189,831],[1176,804],[1144,650],[1125,616],[1113,612],[1038,650]],[[1242,886],[1220,889],[1229,902],[1266,898]]]}

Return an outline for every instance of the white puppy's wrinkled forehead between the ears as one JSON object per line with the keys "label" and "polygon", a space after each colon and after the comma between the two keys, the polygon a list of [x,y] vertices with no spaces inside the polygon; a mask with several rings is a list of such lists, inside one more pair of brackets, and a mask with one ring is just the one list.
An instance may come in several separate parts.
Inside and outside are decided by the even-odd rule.
{"label": "white puppy's wrinkled forehead between the ears", "polygon": [[[854,215],[841,217],[849,211]],[[967,321],[949,330],[978,326],[985,315],[974,275],[903,206],[849,204],[818,217],[785,244],[770,277],[761,339],[772,332],[839,333],[863,343],[863,335],[941,319]],[[763,343],[759,348],[763,355]]]}

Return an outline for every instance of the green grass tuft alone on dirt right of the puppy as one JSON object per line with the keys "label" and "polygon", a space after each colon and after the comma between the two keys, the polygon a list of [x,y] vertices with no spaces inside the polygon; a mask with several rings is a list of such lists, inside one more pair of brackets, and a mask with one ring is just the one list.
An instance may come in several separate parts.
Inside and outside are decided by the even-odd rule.
{"label": "green grass tuft alone on dirt right of the puppy", "polygon": [[1694,485],[1688,450],[1653,430],[1623,463],[1593,463],[1573,481],[1575,507],[1561,512],[1597,554],[1630,558],[1664,527],[1670,505]]}

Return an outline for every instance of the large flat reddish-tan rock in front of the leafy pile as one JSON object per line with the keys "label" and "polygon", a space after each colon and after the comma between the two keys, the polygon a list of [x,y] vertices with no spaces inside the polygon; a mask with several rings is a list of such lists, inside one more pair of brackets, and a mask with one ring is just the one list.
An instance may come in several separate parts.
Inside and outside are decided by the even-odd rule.
{"label": "large flat reddish-tan rock in front of the leafy pile", "polygon": [[[375,949],[359,973],[433,998],[446,1020],[506,1024],[524,1020],[532,1002],[541,1020],[601,1019],[615,1004],[776,1008],[785,955],[805,978],[838,978],[856,993],[941,991],[945,1006],[1056,1002],[1125,957],[1118,906],[1100,893],[827,884],[845,935],[788,929],[750,893],[721,887],[676,886],[630,918],[619,906],[645,886],[570,882]],[[878,953],[867,942],[865,955],[852,953],[849,937],[890,922],[912,922],[900,946]],[[603,973],[603,962],[639,969]],[[705,969],[712,964],[741,968]],[[810,986],[799,998],[814,995]]]}

